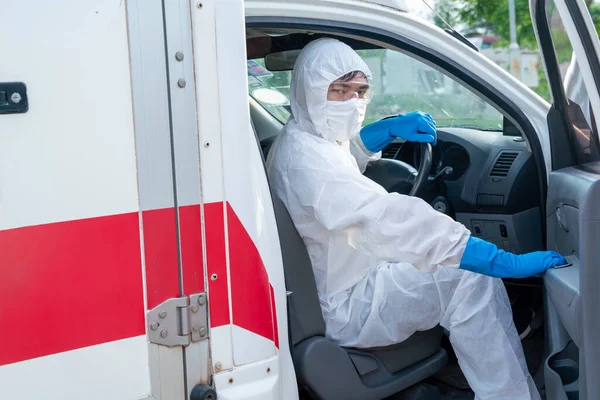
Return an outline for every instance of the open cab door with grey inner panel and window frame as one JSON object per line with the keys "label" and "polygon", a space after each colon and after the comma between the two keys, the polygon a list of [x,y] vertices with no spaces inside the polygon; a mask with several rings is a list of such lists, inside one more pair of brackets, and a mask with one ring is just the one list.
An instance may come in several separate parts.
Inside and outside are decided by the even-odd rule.
{"label": "open cab door with grey inner panel and window frame", "polygon": [[583,0],[531,0],[552,92],[548,248],[572,266],[545,274],[548,399],[600,398],[600,42]]}

